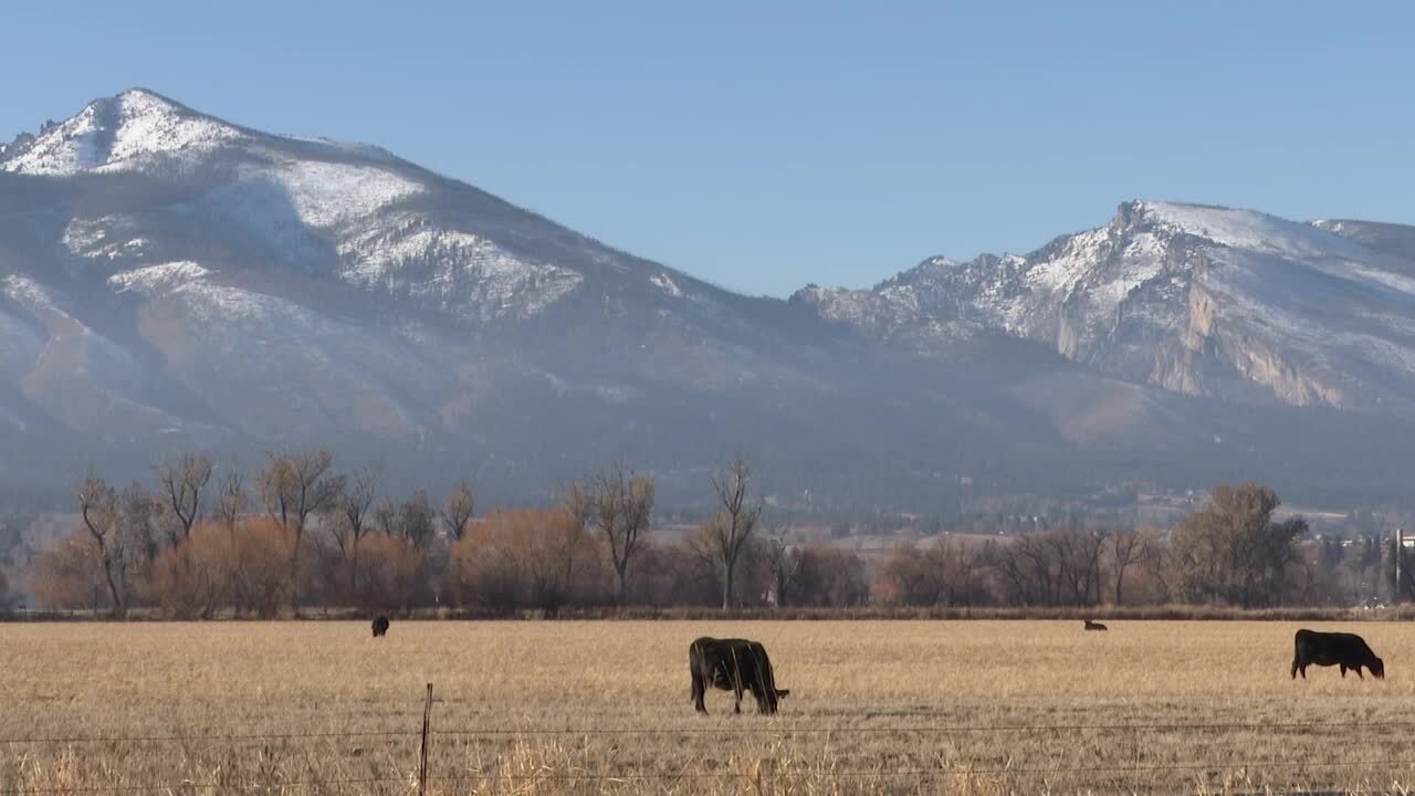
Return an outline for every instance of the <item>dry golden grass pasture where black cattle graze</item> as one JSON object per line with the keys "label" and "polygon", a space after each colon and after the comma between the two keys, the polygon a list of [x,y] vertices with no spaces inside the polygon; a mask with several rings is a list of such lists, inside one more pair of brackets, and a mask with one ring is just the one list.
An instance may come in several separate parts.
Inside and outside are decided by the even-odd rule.
{"label": "dry golden grass pasture where black cattle graze", "polygon": [[[1411,792],[1415,629],[1292,681],[1296,627],[0,625],[0,793],[416,793],[426,683],[439,795]],[[693,712],[702,635],[767,644],[780,715]]]}

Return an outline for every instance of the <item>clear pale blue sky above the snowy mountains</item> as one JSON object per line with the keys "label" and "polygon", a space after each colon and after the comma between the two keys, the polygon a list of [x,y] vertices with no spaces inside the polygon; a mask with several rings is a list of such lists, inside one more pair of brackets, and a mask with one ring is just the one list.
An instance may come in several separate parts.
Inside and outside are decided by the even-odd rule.
{"label": "clear pale blue sky above the snowy mountains", "polygon": [[0,27],[0,137],[143,85],[750,293],[1030,251],[1133,197],[1415,222],[1415,3],[18,3]]}

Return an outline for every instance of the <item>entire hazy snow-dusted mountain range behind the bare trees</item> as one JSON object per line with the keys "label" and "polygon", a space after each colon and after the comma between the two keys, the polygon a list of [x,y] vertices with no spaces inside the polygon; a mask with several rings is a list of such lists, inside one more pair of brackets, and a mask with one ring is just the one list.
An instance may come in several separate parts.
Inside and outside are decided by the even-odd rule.
{"label": "entire hazy snow-dusted mountain range behind the bare trees", "polygon": [[[1098,214],[1098,220],[1104,214]],[[133,89],[0,146],[0,484],[324,445],[505,500],[958,514],[1255,479],[1401,503],[1415,228],[1121,204],[1027,255],[747,297],[368,144]]]}

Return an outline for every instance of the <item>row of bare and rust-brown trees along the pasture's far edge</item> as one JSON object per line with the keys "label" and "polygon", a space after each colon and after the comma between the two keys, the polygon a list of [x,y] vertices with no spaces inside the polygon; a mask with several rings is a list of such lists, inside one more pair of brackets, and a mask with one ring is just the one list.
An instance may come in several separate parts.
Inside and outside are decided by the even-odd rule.
{"label": "row of bare and rust-brown trees along the pasture's far edge", "polygon": [[93,474],[75,484],[78,527],[27,579],[50,609],[269,618],[316,606],[1323,605],[1373,593],[1392,569],[1378,540],[1310,541],[1302,518],[1275,521],[1276,496],[1255,484],[1214,489],[1167,533],[945,534],[870,562],[758,531],[746,459],[710,486],[713,516],[665,538],[652,477],[623,465],[569,484],[553,506],[477,517],[466,480],[434,504],[423,490],[381,494],[372,472],[338,473],[325,450],[272,453],[249,480],[187,453],[160,463],[153,486],[117,490]]}

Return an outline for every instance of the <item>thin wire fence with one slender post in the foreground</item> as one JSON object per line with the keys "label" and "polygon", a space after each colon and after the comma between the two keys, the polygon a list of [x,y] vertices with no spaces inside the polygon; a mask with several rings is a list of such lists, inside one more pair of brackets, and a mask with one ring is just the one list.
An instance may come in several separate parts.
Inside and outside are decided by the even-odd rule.
{"label": "thin wire fence with one slender post in the foreground", "polygon": [[[207,793],[207,792],[265,792],[284,793],[290,790],[316,789],[320,792],[340,792],[352,786],[398,786],[400,792],[416,790],[426,793],[429,786],[458,786],[458,785],[487,785],[495,782],[519,782],[524,790],[525,783],[539,782],[567,782],[567,783],[669,783],[692,780],[754,780],[753,785],[760,793],[775,793],[777,783],[790,783],[799,779],[826,779],[836,782],[865,780],[865,779],[917,779],[938,780],[942,778],[959,776],[988,776],[988,778],[1020,778],[1020,776],[1075,776],[1075,775],[1128,775],[1139,782],[1143,776],[1155,776],[1174,772],[1281,772],[1289,769],[1300,771],[1370,771],[1397,772],[1409,771],[1415,773],[1415,748],[1407,745],[1401,754],[1394,756],[1371,756],[1339,761],[1274,761],[1274,759],[1196,759],[1170,762],[1143,762],[1136,754],[1133,763],[1119,765],[1097,761],[1087,765],[971,765],[952,763],[937,766],[920,765],[887,765],[879,763],[874,768],[831,768],[826,771],[790,771],[770,765],[773,761],[763,759],[758,763],[768,763],[757,771],[676,771],[676,772],[641,772],[641,771],[550,771],[541,769],[533,773],[508,773],[499,771],[458,771],[437,772],[429,768],[429,752],[437,739],[522,739],[546,737],[809,737],[809,735],[899,735],[899,737],[945,737],[945,735],[1016,735],[1016,734],[1111,734],[1133,735],[1136,749],[1143,734],[1234,734],[1234,732],[1336,732],[1350,735],[1357,731],[1384,731],[1392,735],[1408,734],[1415,729],[1412,721],[1341,721],[1341,722],[1108,722],[1108,724],[910,724],[894,727],[453,727],[439,728],[433,725],[433,691],[427,686],[426,703],[423,705],[423,724],[420,729],[350,729],[350,731],[308,731],[308,732],[197,732],[197,734],[149,734],[149,735],[33,735],[33,737],[0,737],[0,748],[16,746],[93,746],[93,745],[163,745],[163,744],[269,744],[269,742],[301,742],[301,741],[335,741],[335,739],[371,739],[371,741],[416,741],[417,759],[416,773],[385,775],[385,776],[355,776],[355,778],[320,778],[320,779],[286,779],[273,785],[232,786],[221,782],[166,782],[166,783],[112,783],[112,785],[67,785],[67,786],[34,786],[0,789],[0,796],[41,796],[62,793]],[[1152,790],[1139,785],[1128,788],[1084,788],[1088,793],[1138,793]],[[1264,793],[1305,793],[1305,790],[1275,790],[1264,788]],[[1412,790],[1405,790],[1407,793]]]}

